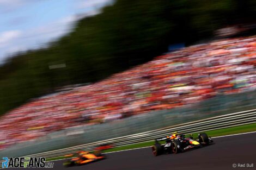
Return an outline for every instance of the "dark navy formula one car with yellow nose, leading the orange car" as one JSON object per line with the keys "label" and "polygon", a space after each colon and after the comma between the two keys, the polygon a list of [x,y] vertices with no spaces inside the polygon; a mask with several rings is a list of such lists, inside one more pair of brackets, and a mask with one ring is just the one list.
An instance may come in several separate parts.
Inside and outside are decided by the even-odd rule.
{"label": "dark navy formula one car with yellow nose, leading the orange car", "polygon": [[[166,143],[160,144],[159,141],[166,140]],[[184,152],[192,148],[200,148],[213,143],[211,137],[208,137],[205,133],[198,134],[198,138],[194,140],[193,136],[185,137],[183,134],[177,132],[172,133],[170,136],[157,138],[155,144],[151,147],[154,156],[158,156],[166,153],[179,153]]]}

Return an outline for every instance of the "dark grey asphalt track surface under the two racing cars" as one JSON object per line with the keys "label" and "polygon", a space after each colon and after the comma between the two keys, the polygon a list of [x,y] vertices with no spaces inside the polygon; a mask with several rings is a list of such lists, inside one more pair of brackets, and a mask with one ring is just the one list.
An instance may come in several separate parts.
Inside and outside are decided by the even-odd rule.
{"label": "dark grey asphalt track surface under the two racing cars", "polygon": [[[153,156],[151,148],[107,154],[107,159],[88,165],[63,167],[66,160],[54,161],[53,169],[67,170],[160,170],[160,169],[256,169],[256,133],[214,138],[215,144],[179,154]],[[233,168],[233,164],[236,167]],[[253,163],[253,167],[247,163]],[[245,164],[244,164],[245,163]]]}

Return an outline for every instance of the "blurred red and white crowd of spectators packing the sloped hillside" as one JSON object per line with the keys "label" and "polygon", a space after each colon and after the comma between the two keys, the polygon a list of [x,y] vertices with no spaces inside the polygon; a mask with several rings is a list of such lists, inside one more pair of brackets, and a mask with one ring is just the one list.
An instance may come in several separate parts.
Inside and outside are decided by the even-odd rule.
{"label": "blurred red and white crowd of spectators packing the sloped hillside", "polygon": [[52,131],[114,121],[256,87],[256,37],[182,48],[95,84],[34,99],[1,117],[0,149]]}

